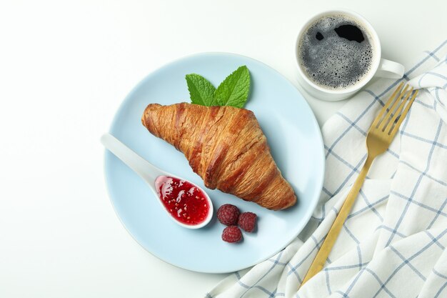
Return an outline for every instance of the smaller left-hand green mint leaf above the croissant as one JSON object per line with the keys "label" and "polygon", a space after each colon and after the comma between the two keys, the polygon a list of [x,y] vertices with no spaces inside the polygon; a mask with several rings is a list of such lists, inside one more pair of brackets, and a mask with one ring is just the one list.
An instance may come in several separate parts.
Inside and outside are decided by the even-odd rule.
{"label": "smaller left-hand green mint leaf above the croissant", "polygon": [[207,79],[199,74],[186,74],[186,84],[188,84],[189,96],[192,104],[202,106],[214,106],[214,91],[216,88]]}

